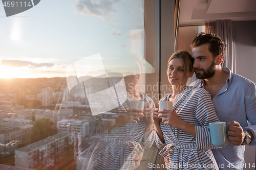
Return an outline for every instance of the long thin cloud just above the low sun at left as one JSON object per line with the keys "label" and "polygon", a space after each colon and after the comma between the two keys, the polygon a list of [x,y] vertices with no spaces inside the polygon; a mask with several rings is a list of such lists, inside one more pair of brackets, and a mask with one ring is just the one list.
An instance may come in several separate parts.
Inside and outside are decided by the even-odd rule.
{"label": "long thin cloud just above the low sun at left", "polygon": [[52,66],[54,66],[53,63],[33,63],[31,61],[23,61],[23,60],[3,60],[2,65],[11,66],[11,67],[27,66],[29,68],[52,67]]}

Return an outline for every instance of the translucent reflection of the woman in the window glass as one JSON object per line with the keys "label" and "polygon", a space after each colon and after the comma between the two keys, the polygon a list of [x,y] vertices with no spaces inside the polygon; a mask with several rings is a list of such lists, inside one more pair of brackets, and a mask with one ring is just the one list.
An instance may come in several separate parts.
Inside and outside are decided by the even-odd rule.
{"label": "translucent reflection of the woman in the window glass", "polygon": [[[107,134],[94,142],[86,151],[79,153],[83,157],[83,170],[135,169],[140,165],[142,148],[149,148],[154,142],[152,119],[154,103],[146,94],[138,90],[142,74],[140,60],[135,56],[130,56],[129,59],[130,74],[124,77],[126,93],[122,94],[127,96],[127,100],[123,104],[119,101],[121,105],[110,111],[117,117],[115,127],[111,127]],[[119,81],[118,78],[109,80]],[[144,101],[144,109],[130,109],[133,100]]]}

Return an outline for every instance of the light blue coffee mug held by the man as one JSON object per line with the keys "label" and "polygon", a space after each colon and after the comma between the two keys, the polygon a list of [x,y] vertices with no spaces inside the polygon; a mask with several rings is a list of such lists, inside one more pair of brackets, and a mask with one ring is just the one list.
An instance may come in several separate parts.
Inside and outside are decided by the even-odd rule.
{"label": "light blue coffee mug held by the man", "polygon": [[209,123],[211,143],[216,147],[224,147],[227,144],[227,126],[225,122]]}

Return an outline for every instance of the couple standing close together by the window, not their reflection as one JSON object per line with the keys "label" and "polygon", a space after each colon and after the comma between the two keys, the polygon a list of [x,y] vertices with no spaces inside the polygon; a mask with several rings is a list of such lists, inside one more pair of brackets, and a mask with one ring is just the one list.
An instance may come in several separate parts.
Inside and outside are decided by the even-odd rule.
{"label": "couple standing close together by the window, not their reflection", "polygon": [[[163,149],[160,154],[168,169],[243,169],[244,145],[255,145],[256,85],[222,67],[226,44],[217,35],[200,33],[191,47],[192,56],[181,51],[168,61],[173,93],[160,101],[173,101],[174,110],[159,111],[155,104],[154,130],[157,146]],[[186,87],[193,67],[199,80],[192,83],[194,87]],[[232,125],[223,148],[214,147],[209,135],[208,123],[219,119]],[[179,163],[184,166],[177,166]]]}

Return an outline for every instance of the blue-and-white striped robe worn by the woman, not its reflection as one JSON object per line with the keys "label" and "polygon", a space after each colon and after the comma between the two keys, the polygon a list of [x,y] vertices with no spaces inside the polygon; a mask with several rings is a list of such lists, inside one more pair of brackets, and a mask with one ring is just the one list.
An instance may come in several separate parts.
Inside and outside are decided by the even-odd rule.
{"label": "blue-and-white striped robe worn by the woman, not its reflection", "polygon": [[[168,101],[172,94],[166,94],[160,101]],[[210,94],[202,89],[187,87],[174,103],[179,117],[196,126],[196,137],[183,130],[164,125],[160,121],[165,143],[156,133],[155,140],[160,155],[169,158],[167,169],[219,169],[210,149],[209,123],[219,121]]]}

